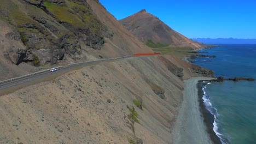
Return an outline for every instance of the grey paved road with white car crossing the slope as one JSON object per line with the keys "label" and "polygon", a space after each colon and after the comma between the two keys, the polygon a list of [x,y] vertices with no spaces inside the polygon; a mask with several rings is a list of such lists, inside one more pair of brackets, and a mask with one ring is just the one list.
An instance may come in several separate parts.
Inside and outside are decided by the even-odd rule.
{"label": "grey paved road with white car crossing the slope", "polygon": [[[56,75],[58,73],[59,74],[65,73],[65,72],[67,72],[71,69],[83,67],[85,65],[96,64],[96,63],[107,62],[107,61],[115,61],[115,60],[118,60],[118,59],[124,59],[124,58],[130,58],[130,57],[135,57],[135,56],[131,55],[131,56],[124,56],[124,57],[117,57],[117,58],[100,59],[100,60],[89,61],[89,62],[74,63],[74,64],[69,64],[69,65],[66,65],[64,67],[58,68],[54,72],[50,72],[50,70],[46,70],[46,71],[41,71],[41,72],[29,74],[29,75],[24,76],[24,77],[16,77],[16,78],[13,78],[13,79],[9,79],[9,80],[0,82],[0,93],[4,89],[10,89],[11,90],[12,87],[21,85],[22,83],[35,81],[35,80],[38,80],[38,79],[41,79],[41,78],[46,78],[46,77],[49,77],[51,75]],[[147,57],[147,56],[136,56],[136,57]],[[25,87],[25,86],[23,86],[23,87]],[[15,89],[13,89],[13,90],[15,91]]]}

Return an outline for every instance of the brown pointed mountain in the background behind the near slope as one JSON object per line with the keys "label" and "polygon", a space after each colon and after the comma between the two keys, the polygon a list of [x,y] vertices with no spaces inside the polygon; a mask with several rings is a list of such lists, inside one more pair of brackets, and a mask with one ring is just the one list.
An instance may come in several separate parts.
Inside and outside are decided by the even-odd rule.
{"label": "brown pointed mountain in the background behind the near slope", "polygon": [[203,45],[195,43],[184,35],[174,31],[158,17],[147,13],[145,9],[119,20],[136,38],[145,44],[160,46],[191,47],[199,49]]}

